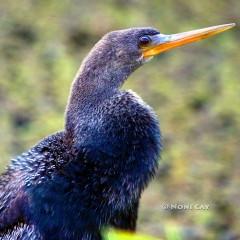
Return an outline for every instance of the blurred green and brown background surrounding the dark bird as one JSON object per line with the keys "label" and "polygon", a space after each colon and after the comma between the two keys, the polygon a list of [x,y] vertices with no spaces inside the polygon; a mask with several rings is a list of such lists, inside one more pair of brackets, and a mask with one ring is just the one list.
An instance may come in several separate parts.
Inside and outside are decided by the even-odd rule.
{"label": "blurred green and brown background surrounding the dark bird", "polygon": [[[70,84],[106,32],[175,33],[237,22],[239,0],[0,1],[0,169],[63,128]],[[240,239],[240,31],[156,57],[125,84],[157,112],[160,170],[138,231],[163,239]],[[210,204],[165,210],[164,204]]]}

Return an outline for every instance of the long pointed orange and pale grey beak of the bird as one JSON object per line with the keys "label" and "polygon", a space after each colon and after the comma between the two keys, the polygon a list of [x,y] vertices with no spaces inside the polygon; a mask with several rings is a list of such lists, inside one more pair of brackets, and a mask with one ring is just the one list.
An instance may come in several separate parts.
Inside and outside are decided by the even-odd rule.
{"label": "long pointed orange and pale grey beak of the bird", "polygon": [[155,56],[172,48],[180,47],[224,32],[235,25],[235,23],[229,23],[171,35],[157,34],[151,36],[152,42],[148,47],[143,48],[143,56],[145,58]]}

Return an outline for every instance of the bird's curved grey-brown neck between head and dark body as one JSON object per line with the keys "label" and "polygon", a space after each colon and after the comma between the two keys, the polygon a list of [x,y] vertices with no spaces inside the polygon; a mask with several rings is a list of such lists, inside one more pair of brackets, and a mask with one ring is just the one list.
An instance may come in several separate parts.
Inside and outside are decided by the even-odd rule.
{"label": "bird's curved grey-brown neck between head and dark body", "polygon": [[126,56],[119,58],[116,49],[106,47],[104,42],[95,45],[72,84],[66,109],[67,131],[76,129],[102,101],[119,91],[119,87],[139,66],[126,59]]}

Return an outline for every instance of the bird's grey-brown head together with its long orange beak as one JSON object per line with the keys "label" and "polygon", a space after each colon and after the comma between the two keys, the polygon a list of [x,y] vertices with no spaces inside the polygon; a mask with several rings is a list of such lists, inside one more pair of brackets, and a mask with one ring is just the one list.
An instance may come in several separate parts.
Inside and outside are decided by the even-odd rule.
{"label": "bird's grey-brown head together with its long orange beak", "polygon": [[115,57],[122,64],[144,63],[162,52],[196,42],[235,26],[234,23],[192,30],[177,34],[161,34],[154,28],[130,28],[110,32],[103,40],[115,49]]}

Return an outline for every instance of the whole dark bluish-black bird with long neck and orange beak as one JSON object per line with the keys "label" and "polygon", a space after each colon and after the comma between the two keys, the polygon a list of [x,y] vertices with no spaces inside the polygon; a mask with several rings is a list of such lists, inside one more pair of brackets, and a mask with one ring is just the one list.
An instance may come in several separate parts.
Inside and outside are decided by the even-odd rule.
{"label": "whole dark bluish-black bird with long neck and orange beak", "polygon": [[0,176],[0,239],[101,240],[108,226],[134,232],[162,137],[153,109],[121,86],[154,56],[233,26],[104,35],[73,80],[64,129],[14,158]]}

